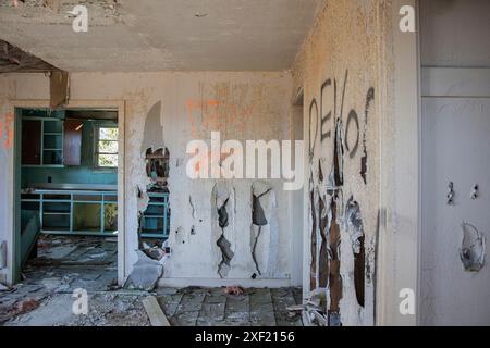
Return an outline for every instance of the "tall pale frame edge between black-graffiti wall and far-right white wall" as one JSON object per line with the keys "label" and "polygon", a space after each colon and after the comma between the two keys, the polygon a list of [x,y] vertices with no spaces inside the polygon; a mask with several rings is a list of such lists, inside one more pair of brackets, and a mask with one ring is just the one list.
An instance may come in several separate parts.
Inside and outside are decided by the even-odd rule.
{"label": "tall pale frame edge between black-graffiti wall and far-right white wall", "polygon": [[[419,0],[393,0],[391,32],[380,57],[380,209],[376,285],[376,325],[414,326],[419,311],[420,265],[420,58]],[[415,33],[402,33],[400,10],[415,10]],[[384,17],[385,18],[385,17]],[[382,20],[382,18],[381,18]],[[387,22],[390,22],[387,20]],[[383,45],[381,45],[383,47]],[[392,69],[385,62],[393,62]],[[400,304],[409,289],[415,314]]]}

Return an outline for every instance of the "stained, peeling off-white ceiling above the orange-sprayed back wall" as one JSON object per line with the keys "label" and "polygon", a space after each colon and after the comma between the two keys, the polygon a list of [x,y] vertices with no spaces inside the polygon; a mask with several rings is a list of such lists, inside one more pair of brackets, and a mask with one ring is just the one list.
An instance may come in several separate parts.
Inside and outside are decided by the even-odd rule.
{"label": "stained, peeling off-white ceiling above the orange-sprayed back wall", "polygon": [[[69,72],[281,71],[322,2],[0,0],[0,39]],[[72,28],[75,4],[87,33]]]}

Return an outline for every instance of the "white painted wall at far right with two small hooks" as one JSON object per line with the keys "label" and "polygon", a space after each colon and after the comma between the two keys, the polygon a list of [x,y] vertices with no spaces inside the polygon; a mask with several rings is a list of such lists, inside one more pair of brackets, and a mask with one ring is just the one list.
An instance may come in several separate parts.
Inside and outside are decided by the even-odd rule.
{"label": "white painted wall at far right with two small hooks", "polygon": [[489,13],[486,0],[420,1],[422,325],[490,324],[490,268],[464,271],[460,259],[462,222],[490,237]]}

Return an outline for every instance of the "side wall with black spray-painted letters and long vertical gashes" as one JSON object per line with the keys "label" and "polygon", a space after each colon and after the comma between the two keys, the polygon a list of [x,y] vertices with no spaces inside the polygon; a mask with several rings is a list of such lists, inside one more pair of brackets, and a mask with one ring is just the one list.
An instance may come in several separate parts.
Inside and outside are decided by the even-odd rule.
{"label": "side wall with black spray-painted letters and long vertical gashes", "polygon": [[[390,10],[390,1],[327,1],[292,72],[293,90],[303,87],[305,96],[304,294],[327,298],[329,310],[334,301],[332,277],[340,278],[343,325],[376,322],[382,214],[379,129],[384,112],[380,100],[385,97],[380,95],[392,66],[382,53],[391,30],[385,21]],[[343,179],[335,179],[338,174]],[[331,239],[335,222],[339,248]],[[364,262],[356,252],[359,244],[364,244]],[[332,266],[332,250],[340,254],[340,275]]]}

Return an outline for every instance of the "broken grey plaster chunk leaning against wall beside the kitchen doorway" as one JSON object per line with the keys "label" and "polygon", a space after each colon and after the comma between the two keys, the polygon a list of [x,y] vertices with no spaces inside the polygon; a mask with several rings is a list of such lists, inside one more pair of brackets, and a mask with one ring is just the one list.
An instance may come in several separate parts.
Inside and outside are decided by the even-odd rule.
{"label": "broken grey plaster chunk leaning against wall beside the kitchen doorway", "polygon": [[133,271],[127,277],[124,287],[151,291],[163,273],[163,265],[148,258],[140,250],[136,250],[136,253],[138,261],[133,265]]}

